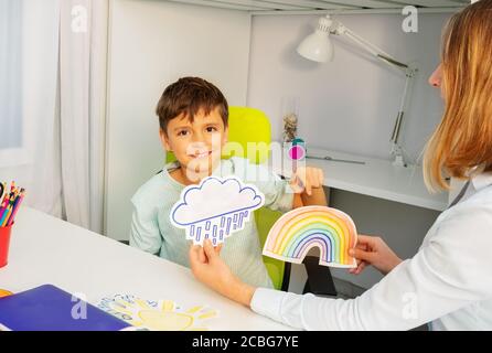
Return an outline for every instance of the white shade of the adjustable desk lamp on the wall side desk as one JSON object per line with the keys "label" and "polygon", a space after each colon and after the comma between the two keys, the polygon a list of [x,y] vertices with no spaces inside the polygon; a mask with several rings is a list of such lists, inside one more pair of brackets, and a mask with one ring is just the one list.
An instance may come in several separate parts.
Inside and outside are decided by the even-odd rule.
{"label": "white shade of the adjustable desk lamp on the wall side desk", "polygon": [[308,35],[297,47],[299,55],[318,63],[333,58],[333,43],[330,40],[330,18],[321,18],[317,30]]}

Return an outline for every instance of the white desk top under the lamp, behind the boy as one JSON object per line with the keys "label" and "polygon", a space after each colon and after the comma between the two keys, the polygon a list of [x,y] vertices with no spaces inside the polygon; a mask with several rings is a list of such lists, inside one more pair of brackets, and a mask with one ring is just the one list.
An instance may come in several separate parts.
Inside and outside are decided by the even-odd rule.
{"label": "white desk top under the lamp, behind the boy", "polygon": [[[364,161],[365,164],[307,159],[307,165],[318,167],[324,172],[324,185],[364,195],[396,201],[424,208],[443,211],[448,194],[430,194],[424,184],[421,167],[395,168],[391,161],[361,157],[336,151],[327,151],[308,146],[308,154],[330,156],[335,159]],[[290,176],[291,170],[282,168],[272,159],[276,173]]]}

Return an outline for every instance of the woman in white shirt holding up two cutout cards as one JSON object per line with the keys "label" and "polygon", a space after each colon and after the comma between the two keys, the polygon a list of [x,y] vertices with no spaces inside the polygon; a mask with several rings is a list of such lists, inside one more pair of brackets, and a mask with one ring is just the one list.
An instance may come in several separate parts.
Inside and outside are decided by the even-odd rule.
{"label": "woman in white shirt holding up two cutout cards", "polygon": [[361,236],[353,256],[360,274],[372,265],[385,277],[352,300],[253,288],[235,278],[210,243],[192,247],[195,277],[254,311],[309,330],[492,329],[492,0],[449,22],[441,65],[429,79],[446,103],[426,149],[429,189],[446,176],[468,180],[458,200],[429,229],[414,258],[399,259],[381,238]]}

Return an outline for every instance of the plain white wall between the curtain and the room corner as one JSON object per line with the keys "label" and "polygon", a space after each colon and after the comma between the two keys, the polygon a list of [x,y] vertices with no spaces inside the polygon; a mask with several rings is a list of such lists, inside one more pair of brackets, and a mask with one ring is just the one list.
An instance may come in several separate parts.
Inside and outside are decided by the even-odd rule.
{"label": "plain white wall between the curtain and the room corner", "polygon": [[113,0],[106,234],[127,239],[131,195],[162,168],[157,103],[181,76],[215,83],[246,104],[250,17],[165,1]]}

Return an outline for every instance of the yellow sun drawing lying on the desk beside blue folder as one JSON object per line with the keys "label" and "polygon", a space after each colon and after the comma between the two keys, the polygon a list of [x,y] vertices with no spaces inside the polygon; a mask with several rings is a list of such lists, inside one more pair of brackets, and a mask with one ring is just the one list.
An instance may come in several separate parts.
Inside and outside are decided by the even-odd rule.
{"label": "yellow sun drawing lying on the desk beside blue folder", "polygon": [[131,325],[151,331],[204,331],[204,321],[217,312],[203,306],[183,309],[172,300],[143,300],[133,296],[103,299],[99,308]]}

